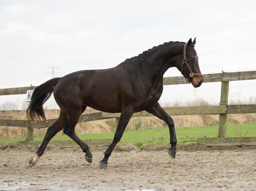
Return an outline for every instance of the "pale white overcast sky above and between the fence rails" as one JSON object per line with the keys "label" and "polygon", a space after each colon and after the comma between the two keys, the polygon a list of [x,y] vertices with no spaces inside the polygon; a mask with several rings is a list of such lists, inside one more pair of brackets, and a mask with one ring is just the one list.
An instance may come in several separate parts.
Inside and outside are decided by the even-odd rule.
{"label": "pale white overcast sky above and between the fence rails", "polygon": [[[0,89],[115,67],[168,41],[197,38],[203,74],[256,70],[256,1],[0,1]],[[165,76],[180,76],[176,68]],[[230,83],[230,99],[255,97],[256,81]],[[23,95],[24,96],[24,95]],[[18,102],[23,96],[0,96]],[[203,98],[217,104],[220,83],[164,86],[160,103]]]}

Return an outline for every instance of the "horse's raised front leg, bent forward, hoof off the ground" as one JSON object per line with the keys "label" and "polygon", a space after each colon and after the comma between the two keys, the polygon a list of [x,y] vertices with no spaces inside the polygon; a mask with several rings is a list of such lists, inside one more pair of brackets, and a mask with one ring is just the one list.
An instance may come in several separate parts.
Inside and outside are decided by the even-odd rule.
{"label": "horse's raised front leg, bent forward, hoof off the ground", "polygon": [[173,119],[164,111],[164,109],[156,102],[152,107],[145,109],[147,112],[152,113],[153,115],[157,116],[159,119],[164,120],[167,123],[170,131],[170,144],[171,148],[169,149],[168,154],[171,158],[175,158],[176,156],[176,133],[174,128]]}

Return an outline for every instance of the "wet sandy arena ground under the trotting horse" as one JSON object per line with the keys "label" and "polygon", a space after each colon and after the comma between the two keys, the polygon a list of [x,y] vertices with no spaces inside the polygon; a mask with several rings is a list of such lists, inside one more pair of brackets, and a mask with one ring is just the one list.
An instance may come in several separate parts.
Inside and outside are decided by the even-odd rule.
{"label": "wet sandy arena ground under the trotting horse", "polygon": [[184,151],[176,159],[167,150],[129,147],[113,151],[100,169],[105,147],[92,147],[89,164],[78,148],[48,145],[37,164],[28,161],[37,148],[0,144],[0,190],[256,190],[255,147]]}

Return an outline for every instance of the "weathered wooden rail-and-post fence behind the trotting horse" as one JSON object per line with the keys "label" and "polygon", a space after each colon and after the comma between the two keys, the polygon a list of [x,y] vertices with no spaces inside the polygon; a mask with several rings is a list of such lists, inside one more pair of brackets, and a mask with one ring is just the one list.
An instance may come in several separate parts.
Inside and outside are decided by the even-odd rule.
{"label": "weathered wooden rail-and-post fence behind the trotting horse", "polygon": [[[255,113],[256,104],[243,104],[243,105],[228,105],[228,95],[229,95],[229,81],[238,80],[253,80],[256,79],[256,71],[247,72],[232,72],[232,73],[218,73],[218,74],[205,74],[204,83],[208,82],[222,82],[221,84],[221,98],[220,105],[213,106],[186,106],[186,107],[164,107],[165,111],[169,115],[198,115],[198,114],[219,114],[219,140],[225,142],[226,139],[226,127],[227,127],[227,115],[234,113]],[[183,76],[178,77],[165,77],[163,79],[163,85],[178,85],[186,84]],[[35,87],[22,87],[22,88],[6,88],[0,89],[0,95],[16,95],[16,94],[26,94],[27,90],[33,90]],[[153,116],[152,114],[141,111],[134,113],[133,117],[142,116]],[[95,112],[90,114],[83,114],[79,119],[79,123],[87,121],[95,121],[106,118],[116,118],[118,122],[120,113],[105,113],[105,112]],[[13,119],[0,119],[0,126],[18,126],[27,127],[28,134],[26,140],[33,140],[33,129],[48,127],[53,124],[56,119],[50,119],[46,122],[42,121],[28,121],[28,120],[13,120]],[[234,139],[232,139],[233,142]],[[237,141],[237,140],[236,140]],[[239,140],[238,140],[239,141]],[[215,140],[216,142],[216,140]],[[217,141],[218,142],[218,141]],[[256,138],[252,137],[248,145],[251,143],[256,144]],[[198,139],[198,143],[211,146],[211,140],[209,139]],[[219,143],[220,144],[220,143]],[[233,145],[236,145],[234,143]]]}

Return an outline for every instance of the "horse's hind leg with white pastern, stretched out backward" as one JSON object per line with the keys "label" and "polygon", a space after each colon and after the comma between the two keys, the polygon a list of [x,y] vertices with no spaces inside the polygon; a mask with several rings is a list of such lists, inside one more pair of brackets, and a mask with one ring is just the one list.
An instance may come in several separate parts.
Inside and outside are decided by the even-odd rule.
{"label": "horse's hind leg with white pastern, stretched out backward", "polygon": [[36,162],[39,160],[39,158],[43,155],[43,152],[49,143],[49,141],[52,139],[52,137],[62,130],[64,126],[67,123],[67,116],[66,113],[63,113],[60,111],[59,118],[47,129],[47,132],[43,138],[43,141],[39,147],[39,149],[36,151],[36,156],[34,158],[31,158],[29,161],[29,166],[32,167],[36,164]]}

